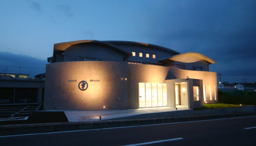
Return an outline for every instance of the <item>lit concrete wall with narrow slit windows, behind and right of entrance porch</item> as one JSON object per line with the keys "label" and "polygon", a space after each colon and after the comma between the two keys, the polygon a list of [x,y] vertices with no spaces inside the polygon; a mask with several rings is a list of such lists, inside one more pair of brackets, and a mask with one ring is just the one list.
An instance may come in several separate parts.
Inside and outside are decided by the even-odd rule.
{"label": "lit concrete wall with narrow slit windows, behind and right of entrance porch", "polygon": [[[206,87],[205,88],[206,102],[207,103],[218,103],[218,89],[217,89],[217,74],[216,74],[216,72],[188,71],[188,70],[182,70],[182,69],[177,69],[177,68],[170,68],[166,79],[187,78],[187,76],[189,78],[203,80],[203,85],[205,85],[205,87]],[[215,86],[216,100],[215,100],[214,86]],[[210,87],[211,87],[212,100],[210,100]],[[192,92],[192,94],[193,94],[193,92]],[[202,97],[202,99],[204,98],[203,96],[201,96],[201,97]]]}

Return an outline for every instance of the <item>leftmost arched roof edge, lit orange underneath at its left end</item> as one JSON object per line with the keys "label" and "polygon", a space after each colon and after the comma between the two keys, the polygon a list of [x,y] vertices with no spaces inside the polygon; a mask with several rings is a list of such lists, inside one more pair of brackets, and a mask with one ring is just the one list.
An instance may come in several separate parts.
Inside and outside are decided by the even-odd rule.
{"label": "leftmost arched roof edge, lit orange underneath at its left end", "polygon": [[66,50],[68,47],[72,46],[72,45],[75,45],[75,44],[79,44],[79,43],[98,43],[98,44],[103,44],[103,45],[106,45],[108,47],[111,47],[117,51],[120,51],[128,56],[132,56],[132,54],[130,54],[129,52],[126,52],[120,48],[118,48],[117,46],[111,44],[111,43],[108,43],[108,42],[105,42],[105,41],[98,41],[98,40],[77,40],[77,41],[71,41],[71,42],[64,42],[64,43],[55,43],[54,44],[54,50],[53,50],[53,56],[54,56],[54,52],[55,50],[56,51],[64,51]]}

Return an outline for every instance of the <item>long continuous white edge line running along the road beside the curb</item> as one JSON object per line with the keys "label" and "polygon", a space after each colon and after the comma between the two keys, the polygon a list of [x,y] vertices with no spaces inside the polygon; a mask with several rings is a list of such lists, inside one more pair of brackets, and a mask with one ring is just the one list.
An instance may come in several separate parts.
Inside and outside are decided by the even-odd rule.
{"label": "long continuous white edge line running along the road beside the curb", "polygon": [[[242,116],[242,117],[225,118],[225,119],[238,119],[238,118],[248,118],[248,117],[255,117],[255,116]],[[189,121],[189,122],[176,122],[176,123],[162,123],[162,124],[139,125],[139,126],[127,126],[127,127],[112,127],[112,128],[90,129],[90,130],[72,130],[72,131],[60,131],[60,132],[48,132],[48,133],[34,133],[34,134],[7,135],[7,136],[0,136],[0,138],[1,138],[1,137],[26,136],[26,135],[39,135],[39,134],[55,134],[55,133],[68,133],[68,132],[79,132],[79,131],[92,131],[92,130],[119,129],[119,128],[142,127],[142,126],[156,126],[156,125],[178,124],[178,123],[192,123],[192,122],[203,122],[203,121],[225,120],[225,119],[212,119],[212,120],[200,120],[200,121]]]}

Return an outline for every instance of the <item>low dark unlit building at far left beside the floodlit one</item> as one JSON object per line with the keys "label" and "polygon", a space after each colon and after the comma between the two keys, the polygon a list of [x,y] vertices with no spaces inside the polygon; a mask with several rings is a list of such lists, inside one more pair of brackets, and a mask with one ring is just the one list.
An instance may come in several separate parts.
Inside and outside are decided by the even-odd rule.
{"label": "low dark unlit building at far left beside the floodlit one", "polygon": [[0,104],[41,104],[44,81],[31,80],[28,74],[0,73]]}

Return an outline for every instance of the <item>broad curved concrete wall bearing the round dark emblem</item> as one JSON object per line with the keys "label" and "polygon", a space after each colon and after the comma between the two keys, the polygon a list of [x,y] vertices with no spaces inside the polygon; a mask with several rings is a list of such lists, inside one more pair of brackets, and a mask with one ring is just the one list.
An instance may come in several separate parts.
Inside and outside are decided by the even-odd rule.
{"label": "broad curved concrete wall bearing the round dark emblem", "polygon": [[[46,64],[44,109],[126,109],[127,65],[115,61]],[[78,88],[80,81],[87,82],[86,90]]]}

